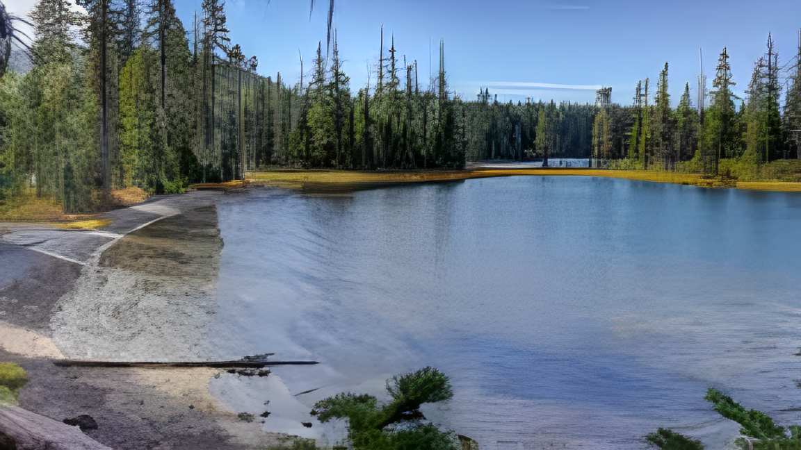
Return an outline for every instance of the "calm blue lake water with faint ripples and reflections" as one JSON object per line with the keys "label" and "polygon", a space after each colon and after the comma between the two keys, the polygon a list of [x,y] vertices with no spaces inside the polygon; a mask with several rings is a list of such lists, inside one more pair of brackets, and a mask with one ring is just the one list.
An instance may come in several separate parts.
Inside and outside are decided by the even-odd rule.
{"label": "calm blue lake water with faint ripples and reflections", "polygon": [[801,424],[801,195],[535,176],[264,189],[227,196],[219,227],[209,353],[321,363],[276,368],[285,388],[214,384],[232,411],[270,409],[264,429],[426,365],[455,392],[426,416],[482,449],[645,448],[658,427],[723,448],[739,427],[710,386]]}

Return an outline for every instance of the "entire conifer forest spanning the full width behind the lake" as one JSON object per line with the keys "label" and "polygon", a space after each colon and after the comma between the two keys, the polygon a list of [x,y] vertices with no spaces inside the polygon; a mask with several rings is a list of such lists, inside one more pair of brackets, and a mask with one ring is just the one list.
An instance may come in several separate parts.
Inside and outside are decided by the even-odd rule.
{"label": "entire conifer forest spanning the full width behind the lake", "polygon": [[770,36],[745,98],[724,48],[712,90],[691,94],[687,82],[675,107],[667,63],[626,105],[513,103],[486,88],[475,98],[449,90],[444,42],[437,73],[420,80],[417,61],[376,30],[375,82],[354,90],[336,30],[306,66],[300,56],[301,77],[290,81],[259,74],[258,59],[231,42],[223,0],[203,0],[187,25],[171,0],[78,4],[87,14],[39,0],[22,49],[32,68],[0,79],[0,199],[34,191],[80,212],[103,191],[175,193],[265,167],[546,166],[549,157],[754,178],[764,163],[801,157],[799,56],[779,66]]}

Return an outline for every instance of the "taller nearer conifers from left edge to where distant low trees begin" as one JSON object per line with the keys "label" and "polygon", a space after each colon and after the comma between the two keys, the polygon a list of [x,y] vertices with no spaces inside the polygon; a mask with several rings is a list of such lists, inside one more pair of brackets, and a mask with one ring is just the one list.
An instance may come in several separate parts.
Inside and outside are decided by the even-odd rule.
{"label": "taller nearer conifers from left edge to where distant low trees begin", "polygon": [[464,167],[442,46],[437,78],[421,87],[382,33],[376,85],[354,95],[336,36],[292,85],[256,74],[256,57],[231,44],[222,0],[204,0],[189,33],[171,0],[79,4],[87,14],[40,0],[33,68],[2,78],[2,195],[35,187],[88,211],[100,191],[176,192],[274,164]]}

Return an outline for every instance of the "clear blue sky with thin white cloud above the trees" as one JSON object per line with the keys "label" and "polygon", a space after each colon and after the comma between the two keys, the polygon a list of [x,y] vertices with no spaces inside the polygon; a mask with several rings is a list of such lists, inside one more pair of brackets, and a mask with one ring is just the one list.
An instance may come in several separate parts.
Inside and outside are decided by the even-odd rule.
{"label": "clear blue sky with thin white cloud above the trees", "polygon": [[[10,10],[34,0],[4,0]],[[191,32],[202,0],[174,0]],[[296,82],[299,52],[308,74],[318,42],[325,51],[328,1],[227,0],[231,42],[259,58],[258,72]],[[19,13],[18,13],[19,14]],[[375,84],[380,51],[395,38],[397,55],[417,60],[421,83],[437,73],[445,42],[449,89],[475,98],[489,87],[499,101],[531,97],[593,102],[595,90],[612,87],[612,101],[630,104],[638,80],[656,85],[669,64],[671,102],[690,82],[697,98],[699,49],[711,88],[718,54],[726,46],[740,96],[768,33],[780,65],[795,64],[801,28],[799,0],[336,0],[333,26],[352,90]],[[191,36],[190,36],[191,38]],[[402,62],[401,62],[402,64]],[[421,86],[422,87],[422,86]],[[653,90],[652,90],[653,91]]]}

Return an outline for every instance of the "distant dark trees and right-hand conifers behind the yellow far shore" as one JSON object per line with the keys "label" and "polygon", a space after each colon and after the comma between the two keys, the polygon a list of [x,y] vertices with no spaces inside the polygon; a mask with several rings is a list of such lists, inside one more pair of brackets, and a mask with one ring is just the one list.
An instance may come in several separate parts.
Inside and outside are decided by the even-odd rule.
{"label": "distant dark trees and right-hand conifers behind the yellow far shore", "polygon": [[[754,66],[745,98],[733,87],[724,48],[710,103],[694,105],[690,83],[675,107],[668,93],[668,64],[656,78],[637,83],[630,106],[498,103],[489,90],[469,102],[468,159],[588,158],[603,167],[662,169],[756,176],[763,163],[801,159],[801,48],[783,69],[770,35]],[[702,86],[706,82],[701,83]],[[655,87],[655,89],[654,89]],[[786,94],[780,107],[783,87]],[[698,98],[698,97],[696,97]],[[739,102],[739,107],[735,107]]]}

